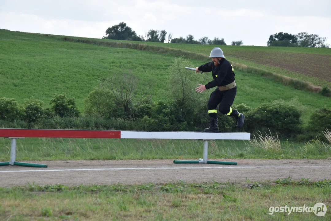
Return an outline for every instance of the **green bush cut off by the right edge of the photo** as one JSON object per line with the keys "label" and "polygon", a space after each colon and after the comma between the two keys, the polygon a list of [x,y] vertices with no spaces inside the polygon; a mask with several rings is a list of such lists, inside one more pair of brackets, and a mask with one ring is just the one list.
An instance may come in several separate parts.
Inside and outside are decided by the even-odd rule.
{"label": "green bush cut off by the right edge of the photo", "polygon": [[331,129],[331,109],[326,106],[317,109],[310,117],[309,128],[316,132]]}

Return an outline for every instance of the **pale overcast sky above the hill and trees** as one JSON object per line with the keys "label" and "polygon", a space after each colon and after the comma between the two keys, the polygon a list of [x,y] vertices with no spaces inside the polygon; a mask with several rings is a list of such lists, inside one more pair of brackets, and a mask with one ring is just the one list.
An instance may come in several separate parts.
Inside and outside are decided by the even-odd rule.
{"label": "pale overcast sky above the hill and trees", "polygon": [[158,29],[228,45],[266,46],[278,32],[318,34],[331,45],[330,0],[0,0],[0,28],[12,31],[102,38],[120,22],[138,35]]}

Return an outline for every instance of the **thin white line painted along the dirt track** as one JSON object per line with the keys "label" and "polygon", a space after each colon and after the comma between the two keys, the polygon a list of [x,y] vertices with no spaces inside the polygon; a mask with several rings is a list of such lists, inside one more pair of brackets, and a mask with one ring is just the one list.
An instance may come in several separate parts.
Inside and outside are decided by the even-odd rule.
{"label": "thin white line painted along the dirt track", "polygon": [[61,172],[61,171],[95,171],[95,170],[177,170],[177,169],[227,169],[227,168],[331,168],[331,166],[251,166],[251,167],[141,167],[141,168],[97,168],[97,169],[62,169],[62,170],[5,170],[0,173],[15,172]]}

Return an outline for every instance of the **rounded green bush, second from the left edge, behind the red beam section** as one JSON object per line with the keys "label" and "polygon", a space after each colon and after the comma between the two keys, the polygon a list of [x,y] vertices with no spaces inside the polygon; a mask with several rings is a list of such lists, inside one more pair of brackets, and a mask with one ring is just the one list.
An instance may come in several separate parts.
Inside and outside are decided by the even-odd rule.
{"label": "rounded green bush, second from the left edge, behind the red beam section", "polygon": [[42,101],[33,97],[25,100],[23,114],[23,119],[28,123],[36,122],[43,118],[45,116],[45,110],[42,106]]}

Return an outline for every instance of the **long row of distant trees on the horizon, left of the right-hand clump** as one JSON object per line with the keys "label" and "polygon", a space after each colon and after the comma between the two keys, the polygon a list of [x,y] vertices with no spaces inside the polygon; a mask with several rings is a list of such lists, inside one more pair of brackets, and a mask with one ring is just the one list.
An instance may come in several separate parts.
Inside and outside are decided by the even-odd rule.
{"label": "long row of distant trees on the horizon, left of the right-hand clump", "polygon": [[[167,35],[168,34],[168,35]],[[218,44],[226,45],[224,38],[219,39],[214,37],[214,39],[209,39],[209,37],[202,37],[199,40],[195,40],[192,34],[184,37],[172,38],[172,33],[167,33],[166,30],[155,30],[150,29],[145,36],[137,35],[137,33],[128,27],[126,23],[121,22],[118,25],[107,28],[106,36],[104,39],[114,39],[114,40],[129,40],[129,41],[152,41],[152,42],[166,42],[166,43],[182,43],[182,44]],[[242,45],[243,41],[232,41],[231,45]]]}

